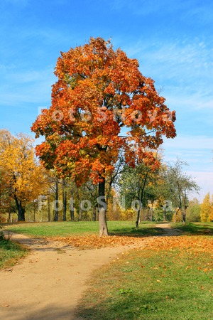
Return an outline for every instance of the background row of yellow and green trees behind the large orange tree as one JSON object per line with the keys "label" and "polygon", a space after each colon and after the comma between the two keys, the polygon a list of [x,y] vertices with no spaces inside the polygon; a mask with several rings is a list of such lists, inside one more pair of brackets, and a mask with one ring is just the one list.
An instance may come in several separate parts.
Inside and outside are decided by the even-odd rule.
{"label": "background row of yellow and green trees behind the large orange tree", "polygon": [[[71,178],[59,178],[53,170],[43,168],[27,134],[13,136],[1,129],[0,154],[2,221],[98,219],[102,199],[97,184],[90,179],[77,186]],[[183,161],[165,164],[160,152],[155,156],[160,166],[153,170],[145,164],[133,168],[126,164],[124,154],[119,155],[106,178],[109,220],[132,220],[136,227],[140,220],[185,222],[190,193],[199,187],[183,173]]]}

